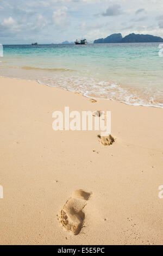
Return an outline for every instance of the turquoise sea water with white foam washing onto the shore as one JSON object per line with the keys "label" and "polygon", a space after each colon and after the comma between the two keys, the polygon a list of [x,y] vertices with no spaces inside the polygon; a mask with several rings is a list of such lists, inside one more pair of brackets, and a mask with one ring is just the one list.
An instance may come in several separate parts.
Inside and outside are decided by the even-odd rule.
{"label": "turquoise sea water with white foam washing onto the shore", "polygon": [[159,43],[4,45],[0,76],[38,81],[87,97],[163,108]]}

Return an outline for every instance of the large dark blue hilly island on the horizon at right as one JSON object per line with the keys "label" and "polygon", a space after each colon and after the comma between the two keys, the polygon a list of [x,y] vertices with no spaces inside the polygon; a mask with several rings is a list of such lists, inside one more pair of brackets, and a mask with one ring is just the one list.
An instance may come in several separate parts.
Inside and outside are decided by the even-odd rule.
{"label": "large dark blue hilly island on the horizon at right", "polygon": [[100,38],[95,40],[94,44],[106,44],[106,43],[116,43],[116,42],[163,42],[160,36],[154,35],[143,35],[143,34],[129,34],[122,38],[122,34],[112,34],[106,38]]}

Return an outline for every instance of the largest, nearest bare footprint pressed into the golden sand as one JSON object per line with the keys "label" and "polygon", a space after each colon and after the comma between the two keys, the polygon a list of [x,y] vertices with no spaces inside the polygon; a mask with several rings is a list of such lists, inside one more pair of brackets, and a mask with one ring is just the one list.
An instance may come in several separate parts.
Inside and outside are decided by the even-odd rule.
{"label": "largest, nearest bare footprint pressed into the golden sand", "polygon": [[60,211],[60,223],[73,235],[78,235],[83,227],[85,214],[83,209],[92,193],[76,190]]}

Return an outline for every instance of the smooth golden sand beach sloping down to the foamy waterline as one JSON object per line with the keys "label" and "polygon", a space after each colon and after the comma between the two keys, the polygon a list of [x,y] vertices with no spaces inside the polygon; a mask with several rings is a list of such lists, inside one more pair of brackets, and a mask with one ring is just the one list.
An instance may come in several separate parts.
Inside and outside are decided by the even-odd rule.
{"label": "smooth golden sand beach sloping down to the foamy waterline", "polygon": [[[0,78],[0,90],[1,245],[163,243],[163,109],[93,103],[82,94],[9,78]],[[97,131],[54,131],[52,114],[65,106],[111,111],[115,142],[102,145]],[[77,190],[90,197],[80,203]],[[77,235],[58,220],[68,199],[67,208],[84,207]]]}

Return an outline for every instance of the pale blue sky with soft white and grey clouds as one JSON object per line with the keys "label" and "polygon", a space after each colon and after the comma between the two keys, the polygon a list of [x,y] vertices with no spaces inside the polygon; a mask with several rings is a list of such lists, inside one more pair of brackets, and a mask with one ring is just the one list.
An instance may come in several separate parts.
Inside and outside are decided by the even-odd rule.
{"label": "pale blue sky with soft white and grey clouds", "polygon": [[0,43],[91,42],[113,33],[163,38],[163,0],[0,0]]}

